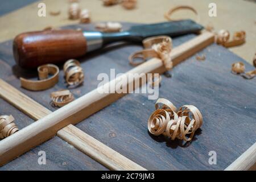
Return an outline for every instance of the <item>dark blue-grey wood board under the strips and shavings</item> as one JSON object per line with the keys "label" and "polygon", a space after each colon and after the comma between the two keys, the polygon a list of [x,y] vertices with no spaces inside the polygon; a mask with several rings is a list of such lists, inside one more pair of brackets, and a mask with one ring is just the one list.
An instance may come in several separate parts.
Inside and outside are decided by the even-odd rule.
{"label": "dark blue-grey wood board under the strips and shavings", "polygon": [[[131,25],[130,23],[124,24],[125,29]],[[78,27],[93,30],[93,24],[67,28]],[[175,38],[174,47],[193,37],[195,35]],[[15,66],[11,46],[11,42],[0,44],[1,78],[48,109],[55,110],[49,105],[49,93],[66,88],[64,79],[62,79],[62,69],[60,81],[54,88],[43,92],[30,92],[20,88],[18,77],[36,78],[36,72],[23,71]],[[82,61],[85,82],[79,88],[71,89],[71,92],[78,98],[97,88],[100,82],[97,81],[98,74],[109,74],[110,68],[115,68],[116,73],[129,71],[133,67],[129,65],[127,57],[139,49],[142,49],[139,45],[119,43],[81,57],[79,60]],[[154,137],[148,134],[147,119],[154,111],[155,101],[148,100],[146,94],[129,94],[76,126],[147,169],[225,169],[256,142],[256,78],[245,80],[230,73],[231,65],[236,61],[243,61],[248,71],[254,68],[224,47],[212,44],[199,52],[199,55],[203,53],[206,56],[205,61],[197,61],[195,56],[192,56],[171,71],[172,78],[163,76],[159,90],[159,97],[167,98],[177,107],[185,104],[195,105],[203,114],[203,126],[197,131],[191,143],[183,145],[178,140],[170,141],[162,136]],[[4,107],[2,105],[6,105],[2,102],[5,101],[1,101],[1,108]],[[14,114],[19,113],[15,109],[10,110],[10,113],[19,115]],[[5,114],[10,113],[6,110]],[[17,122],[21,127],[32,122],[23,114],[20,115],[17,118],[20,121]],[[23,118],[27,121],[23,121]],[[47,152],[54,156],[64,155],[69,162],[73,162],[67,168],[62,168],[61,165],[55,166],[56,168],[104,169],[100,164],[91,162],[85,156],[83,157],[85,163],[80,160],[76,166],[76,160],[79,160],[78,158],[82,155],[78,154],[79,151],[75,149],[64,150],[66,145],[64,141],[55,137],[39,148],[48,147]],[[37,148],[34,150],[38,151]],[[216,165],[208,163],[209,151],[216,151]],[[34,158],[27,156],[31,152],[33,150],[0,169],[20,169],[22,167],[19,166],[25,165],[35,166],[32,163]],[[48,158],[48,160],[59,164],[55,158]],[[81,167],[81,163],[86,167]],[[47,166],[42,168],[39,165],[34,166],[31,168],[51,169]]]}

